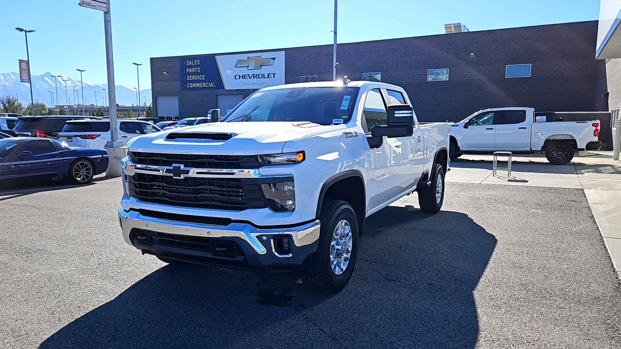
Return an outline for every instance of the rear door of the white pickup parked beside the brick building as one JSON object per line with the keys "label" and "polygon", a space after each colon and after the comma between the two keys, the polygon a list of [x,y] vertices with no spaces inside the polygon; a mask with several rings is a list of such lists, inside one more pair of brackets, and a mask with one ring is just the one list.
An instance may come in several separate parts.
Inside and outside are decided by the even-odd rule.
{"label": "rear door of the white pickup parked beside the brick building", "polygon": [[530,149],[530,125],[525,110],[496,111],[494,145],[498,150]]}

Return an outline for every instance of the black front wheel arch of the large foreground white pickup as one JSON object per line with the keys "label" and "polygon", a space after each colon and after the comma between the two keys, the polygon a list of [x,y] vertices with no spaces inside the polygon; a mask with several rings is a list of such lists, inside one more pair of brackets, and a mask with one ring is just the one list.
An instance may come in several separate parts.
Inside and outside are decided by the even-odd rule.
{"label": "black front wheel arch of the large foreground white pickup", "polygon": [[366,218],[366,189],[365,179],[360,171],[343,171],[333,175],[324,182],[317,200],[317,212],[315,212],[315,218],[317,219],[319,219],[325,199],[347,201],[356,213],[358,234],[362,232]]}

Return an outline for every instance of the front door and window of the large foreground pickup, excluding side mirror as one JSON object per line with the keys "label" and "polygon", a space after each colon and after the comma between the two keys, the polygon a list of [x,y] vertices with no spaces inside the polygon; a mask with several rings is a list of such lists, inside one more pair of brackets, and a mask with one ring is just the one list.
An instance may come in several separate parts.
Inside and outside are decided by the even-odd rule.
{"label": "front door and window of the large foreground pickup, excluding side mirror", "polygon": [[[365,134],[370,134],[376,125],[386,125],[386,103],[380,89],[371,89],[366,93],[363,107],[362,127]],[[371,168],[368,171],[366,191],[369,197],[368,209],[374,209],[390,201],[397,194],[397,183],[401,181],[402,142],[399,138],[383,137],[379,148],[371,149]]]}

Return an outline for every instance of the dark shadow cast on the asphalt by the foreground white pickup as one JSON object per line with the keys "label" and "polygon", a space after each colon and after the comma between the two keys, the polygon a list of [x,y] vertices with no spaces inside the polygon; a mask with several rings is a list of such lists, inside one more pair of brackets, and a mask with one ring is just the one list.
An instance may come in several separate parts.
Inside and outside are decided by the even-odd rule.
{"label": "dark shadow cast on the asphalt by the foreground white pickup", "polygon": [[297,276],[168,265],[40,348],[474,348],[473,291],[495,246],[468,215],[390,206],[335,296]]}

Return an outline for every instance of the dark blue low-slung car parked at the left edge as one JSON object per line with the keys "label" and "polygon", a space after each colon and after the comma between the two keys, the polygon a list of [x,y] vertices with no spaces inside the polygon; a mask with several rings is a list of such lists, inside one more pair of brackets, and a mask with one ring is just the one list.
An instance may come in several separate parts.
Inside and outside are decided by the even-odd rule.
{"label": "dark blue low-slung car parked at the left edge", "polygon": [[101,148],[71,149],[46,138],[0,139],[0,179],[40,177],[86,184],[107,167],[108,155]]}

